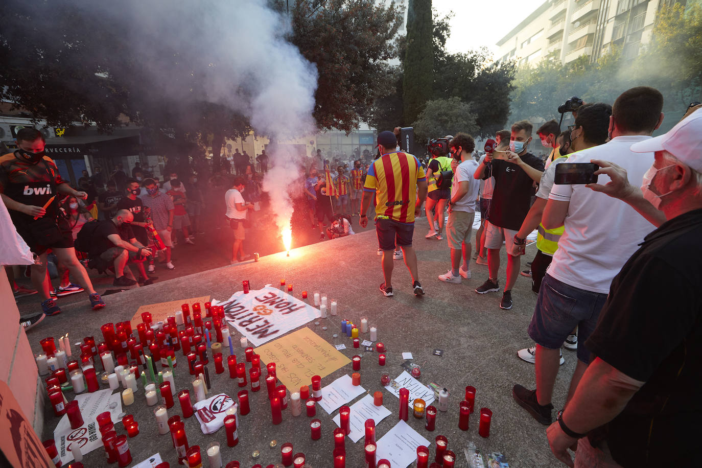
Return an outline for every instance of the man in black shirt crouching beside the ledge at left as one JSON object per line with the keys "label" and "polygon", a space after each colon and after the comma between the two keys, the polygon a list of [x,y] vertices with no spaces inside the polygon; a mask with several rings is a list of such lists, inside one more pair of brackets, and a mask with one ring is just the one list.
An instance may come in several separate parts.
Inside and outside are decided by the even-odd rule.
{"label": "man in black shirt crouching beside the ledge at left", "polygon": [[[136,281],[124,276],[124,267],[127,262],[134,263],[139,270],[139,283],[148,285],[153,283],[146,276],[144,258],[151,255],[151,250],[146,248],[134,236],[131,222],[134,220],[129,210],[118,210],[110,220],[100,222],[93,233],[93,248],[91,258],[100,258],[114,265],[114,286],[133,286]],[[130,272],[131,273],[131,272]]]}

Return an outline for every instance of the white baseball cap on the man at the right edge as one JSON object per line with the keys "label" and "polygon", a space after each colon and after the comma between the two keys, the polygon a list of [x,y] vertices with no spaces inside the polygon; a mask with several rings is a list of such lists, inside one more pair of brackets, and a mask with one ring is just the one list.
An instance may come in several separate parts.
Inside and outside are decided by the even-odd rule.
{"label": "white baseball cap on the man at the right edge", "polygon": [[678,122],[668,133],[631,145],[635,153],[663,150],[702,173],[702,109]]}

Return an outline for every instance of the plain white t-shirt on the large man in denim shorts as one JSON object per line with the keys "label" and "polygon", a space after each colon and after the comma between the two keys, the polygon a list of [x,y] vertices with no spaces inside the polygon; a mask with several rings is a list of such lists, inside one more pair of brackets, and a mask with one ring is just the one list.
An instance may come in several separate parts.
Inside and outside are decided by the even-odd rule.
{"label": "plain white t-shirt on the large man in denim shorts", "polygon": [[[642,184],[644,173],[654,162],[653,153],[634,153],[631,145],[649,136],[621,136],[610,142],[570,154],[568,163],[604,159],[626,169],[629,182]],[[597,183],[607,184],[608,175]],[[565,232],[546,272],[575,288],[609,293],[609,285],[644,236],[655,229],[634,208],[621,200],[588,189],[585,185],[553,185],[551,200],[569,201]]]}

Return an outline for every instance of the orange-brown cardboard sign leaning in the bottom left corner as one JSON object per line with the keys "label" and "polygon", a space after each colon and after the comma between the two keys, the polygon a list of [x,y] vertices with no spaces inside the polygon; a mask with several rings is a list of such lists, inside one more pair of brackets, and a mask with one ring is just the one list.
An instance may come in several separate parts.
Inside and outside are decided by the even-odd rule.
{"label": "orange-brown cardboard sign leaning in the bottom left corner", "polygon": [[44,444],[22,413],[12,390],[0,380],[0,448],[11,467],[53,468]]}

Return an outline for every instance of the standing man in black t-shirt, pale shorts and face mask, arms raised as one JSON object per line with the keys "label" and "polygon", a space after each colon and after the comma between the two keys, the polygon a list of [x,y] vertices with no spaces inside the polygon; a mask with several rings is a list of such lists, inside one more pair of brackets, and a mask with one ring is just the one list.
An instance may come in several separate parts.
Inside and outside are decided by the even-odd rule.
{"label": "standing man in black t-shirt, pale shorts and face mask, arms raised", "polygon": [[476,179],[495,178],[495,189],[490,203],[490,220],[486,225],[485,246],[490,276],[476,288],[478,294],[500,290],[497,273],[500,269],[500,248],[505,241],[507,248],[507,278],[500,307],[512,308],[512,286],[519,276],[519,255],[515,252],[515,234],[529,213],[529,203],[534,195],[534,182],[538,184],[543,173],[543,161],[527,152],[531,142],[532,126],[522,120],[512,125],[509,149],[501,142],[495,153],[486,154],[475,170]]}

